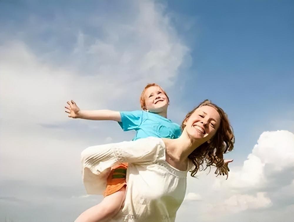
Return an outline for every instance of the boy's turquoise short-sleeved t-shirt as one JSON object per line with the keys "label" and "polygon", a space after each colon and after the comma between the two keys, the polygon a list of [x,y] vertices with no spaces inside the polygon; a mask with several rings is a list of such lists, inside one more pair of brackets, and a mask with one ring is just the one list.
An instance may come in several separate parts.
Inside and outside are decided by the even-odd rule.
{"label": "boy's turquoise short-sleeved t-shirt", "polygon": [[120,114],[121,122],[118,124],[123,131],[136,130],[133,140],[149,136],[175,139],[181,135],[181,127],[178,124],[156,113],[136,110]]}

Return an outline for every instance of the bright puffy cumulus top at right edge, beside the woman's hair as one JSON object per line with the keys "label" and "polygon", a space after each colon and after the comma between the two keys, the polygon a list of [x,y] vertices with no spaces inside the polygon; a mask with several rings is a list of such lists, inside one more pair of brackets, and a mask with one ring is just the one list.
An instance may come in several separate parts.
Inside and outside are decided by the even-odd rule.
{"label": "bright puffy cumulus top at right edge, beside the woman's hair", "polygon": [[[277,174],[294,167],[294,136],[285,130],[263,132],[240,171],[232,170],[232,188],[265,188],[279,185]],[[288,181],[289,184],[291,181]],[[283,184],[283,185],[287,185]]]}

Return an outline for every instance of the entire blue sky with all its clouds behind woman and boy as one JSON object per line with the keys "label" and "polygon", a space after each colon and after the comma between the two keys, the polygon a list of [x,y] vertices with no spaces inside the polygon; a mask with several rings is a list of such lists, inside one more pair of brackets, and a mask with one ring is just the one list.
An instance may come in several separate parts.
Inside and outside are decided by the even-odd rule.
{"label": "entire blue sky with all its clouds behind woman and boy", "polygon": [[62,107],[74,99],[82,109],[136,110],[149,82],[167,91],[174,122],[210,99],[235,132],[229,179],[188,178],[178,222],[215,221],[216,207],[218,221],[281,214],[293,221],[293,6],[0,1],[0,167],[10,166],[0,173],[0,221],[69,221],[98,203],[101,197],[85,196],[79,155],[89,145],[131,140],[133,132],[68,119]]}

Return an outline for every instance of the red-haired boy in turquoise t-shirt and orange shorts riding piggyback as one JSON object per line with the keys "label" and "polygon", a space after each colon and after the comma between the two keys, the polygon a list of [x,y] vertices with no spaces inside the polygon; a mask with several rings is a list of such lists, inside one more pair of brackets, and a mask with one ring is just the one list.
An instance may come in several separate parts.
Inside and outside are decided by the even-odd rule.
{"label": "red-haired boy in turquoise t-shirt and orange shorts riding piggyback", "polygon": [[[65,107],[65,112],[71,118],[87,120],[114,120],[117,121],[123,131],[136,130],[133,140],[149,136],[160,138],[178,138],[181,128],[178,124],[167,119],[169,98],[166,92],[157,84],[146,85],[140,103],[142,110],[131,112],[117,112],[111,110],[80,110],[71,100]],[[122,207],[126,189],[127,163],[122,163],[111,169],[107,179],[104,199],[96,206],[83,212],[77,222],[103,221],[114,216]]]}

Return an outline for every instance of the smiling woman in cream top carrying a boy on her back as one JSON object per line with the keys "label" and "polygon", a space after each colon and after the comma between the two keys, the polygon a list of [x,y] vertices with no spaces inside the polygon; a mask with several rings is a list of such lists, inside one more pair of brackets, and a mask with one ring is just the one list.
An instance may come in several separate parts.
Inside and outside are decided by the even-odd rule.
{"label": "smiling woman in cream top carrying a boy on her back", "polygon": [[[205,162],[228,174],[223,154],[233,149],[234,135],[220,107],[205,100],[186,115],[182,130],[178,139],[148,137],[82,152],[88,194],[103,192],[111,166],[129,163],[125,204],[111,221],[175,221],[188,171],[195,176]],[[85,212],[76,221],[91,221],[85,215],[95,214],[95,206]]]}

